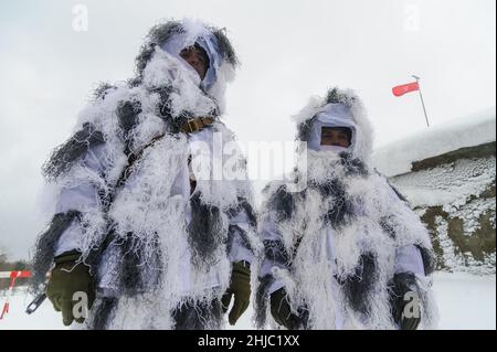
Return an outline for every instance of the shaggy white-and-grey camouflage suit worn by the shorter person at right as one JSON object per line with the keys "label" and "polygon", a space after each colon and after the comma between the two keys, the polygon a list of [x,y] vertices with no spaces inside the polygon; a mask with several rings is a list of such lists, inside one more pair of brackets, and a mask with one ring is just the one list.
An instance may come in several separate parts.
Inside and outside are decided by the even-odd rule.
{"label": "shaggy white-and-grey camouflage suit worn by the shorter person at right", "polygon": [[[325,98],[313,98],[296,122],[297,139],[308,147],[300,150],[307,168],[297,167],[288,183],[264,190],[258,327],[267,324],[269,295],[284,288],[303,329],[396,329],[389,302],[396,274],[411,279],[421,298],[421,323],[433,328],[430,236],[370,167],[372,129],[360,99],[330,89]],[[348,127],[350,147],[320,146],[322,126]],[[307,186],[297,185],[303,182]]]}

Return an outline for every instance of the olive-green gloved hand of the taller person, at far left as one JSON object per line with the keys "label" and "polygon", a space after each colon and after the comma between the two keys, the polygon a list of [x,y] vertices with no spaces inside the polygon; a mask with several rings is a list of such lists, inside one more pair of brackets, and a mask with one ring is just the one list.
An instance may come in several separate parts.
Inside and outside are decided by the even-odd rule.
{"label": "olive-green gloved hand of the taller person, at far left", "polygon": [[88,298],[88,310],[95,300],[94,280],[89,274],[89,268],[80,263],[76,265],[81,253],[71,252],[62,254],[54,258],[55,267],[46,287],[46,297],[53,305],[55,311],[62,311],[62,321],[68,327],[76,322],[84,322],[85,318],[75,318],[73,316],[73,306],[77,300],[73,301],[75,292],[85,292]]}

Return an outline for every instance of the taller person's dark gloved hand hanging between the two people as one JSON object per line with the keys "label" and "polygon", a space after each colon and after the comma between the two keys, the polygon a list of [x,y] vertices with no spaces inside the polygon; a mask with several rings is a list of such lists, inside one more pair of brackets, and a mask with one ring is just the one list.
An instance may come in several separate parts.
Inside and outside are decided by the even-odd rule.
{"label": "taller person's dark gloved hand hanging between the two people", "polygon": [[233,295],[234,303],[228,317],[231,326],[234,326],[242,317],[243,312],[248,308],[251,299],[251,269],[242,262],[233,263],[230,288],[221,299],[224,313],[228,311]]}

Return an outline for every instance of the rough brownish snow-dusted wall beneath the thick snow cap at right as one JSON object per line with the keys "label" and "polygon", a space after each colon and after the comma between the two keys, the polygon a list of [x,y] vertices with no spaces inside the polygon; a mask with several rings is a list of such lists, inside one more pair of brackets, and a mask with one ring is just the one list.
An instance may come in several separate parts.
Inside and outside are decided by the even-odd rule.
{"label": "rough brownish snow-dusted wall beneath the thick snow cap at right", "polygon": [[496,143],[413,163],[390,182],[431,232],[437,269],[495,274]]}

